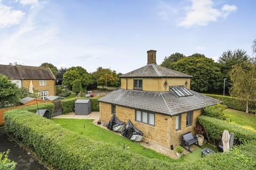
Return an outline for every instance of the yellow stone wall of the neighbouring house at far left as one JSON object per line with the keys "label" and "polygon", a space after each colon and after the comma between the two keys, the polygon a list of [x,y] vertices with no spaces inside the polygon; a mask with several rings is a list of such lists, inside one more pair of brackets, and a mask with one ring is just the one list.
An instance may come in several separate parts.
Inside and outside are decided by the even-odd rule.
{"label": "yellow stone wall of the neighbouring house at far left", "polygon": [[[55,96],[55,80],[46,80],[46,86],[39,86],[39,80],[31,80],[33,88],[39,91],[48,91],[48,96]],[[22,80],[23,88],[29,88],[30,80]],[[38,95],[38,94],[37,94]]]}

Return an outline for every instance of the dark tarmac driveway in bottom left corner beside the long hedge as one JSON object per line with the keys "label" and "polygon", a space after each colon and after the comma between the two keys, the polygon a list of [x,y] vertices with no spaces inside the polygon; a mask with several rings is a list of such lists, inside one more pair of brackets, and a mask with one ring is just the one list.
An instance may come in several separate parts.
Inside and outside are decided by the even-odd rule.
{"label": "dark tarmac driveway in bottom left corner beside the long hedge", "polygon": [[17,170],[28,169],[47,169],[40,164],[29,152],[20,148],[18,143],[9,140],[9,136],[5,133],[4,128],[0,128],[0,152],[10,149],[8,158],[17,163]]}

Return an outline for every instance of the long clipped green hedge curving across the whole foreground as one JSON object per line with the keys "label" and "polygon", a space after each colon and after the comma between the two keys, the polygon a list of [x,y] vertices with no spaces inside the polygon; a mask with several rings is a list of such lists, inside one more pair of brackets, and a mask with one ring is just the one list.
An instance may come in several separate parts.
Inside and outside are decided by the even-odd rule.
{"label": "long clipped green hedge curving across the whole foreground", "polygon": [[256,141],[196,162],[169,163],[149,159],[68,131],[26,110],[4,115],[6,132],[51,168],[57,169],[255,169]]}

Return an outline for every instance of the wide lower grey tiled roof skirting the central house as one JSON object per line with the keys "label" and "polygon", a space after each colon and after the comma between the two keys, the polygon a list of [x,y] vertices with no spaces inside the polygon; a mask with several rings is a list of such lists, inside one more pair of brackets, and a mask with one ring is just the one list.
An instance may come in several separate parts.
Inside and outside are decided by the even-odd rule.
{"label": "wide lower grey tiled roof skirting the central house", "polygon": [[220,100],[204,96],[193,90],[189,91],[193,93],[193,96],[177,97],[172,92],[118,89],[98,101],[166,115],[176,115],[222,103]]}

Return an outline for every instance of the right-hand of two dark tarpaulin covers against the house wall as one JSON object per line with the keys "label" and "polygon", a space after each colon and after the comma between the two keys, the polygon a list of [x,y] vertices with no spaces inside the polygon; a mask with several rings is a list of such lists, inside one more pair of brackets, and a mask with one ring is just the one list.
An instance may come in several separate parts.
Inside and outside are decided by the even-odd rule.
{"label": "right-hand of two dark tarpaulin covers against the house wall", "polygon": [[132,122],[129,120],[122,135],[129,138],[132,141],[140,142],[143,139],[143,133],[134,127]]}

